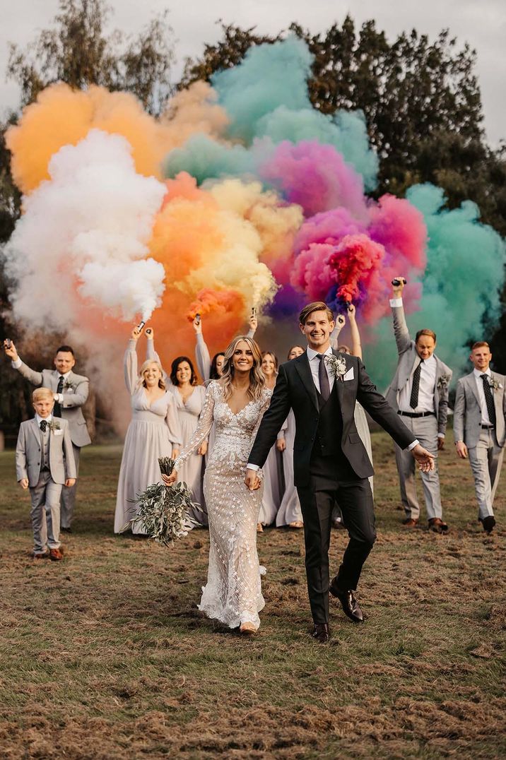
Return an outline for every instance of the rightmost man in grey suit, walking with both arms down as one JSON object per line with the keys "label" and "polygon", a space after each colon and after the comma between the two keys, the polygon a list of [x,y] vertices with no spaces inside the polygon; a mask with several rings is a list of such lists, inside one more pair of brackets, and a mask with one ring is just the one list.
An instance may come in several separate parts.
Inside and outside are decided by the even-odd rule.
{"label": "rightmost man in grey suit, walking with both arms down", "polygon": [[485,532],[490,534],[495,526],[492,507],[506,442],[506,377],[491,372],[492,353],[485,340],[473,345],[469,359],[474,369],[457,383],[453,436],[460,458],[469,456],[478,500],[478,519]]}

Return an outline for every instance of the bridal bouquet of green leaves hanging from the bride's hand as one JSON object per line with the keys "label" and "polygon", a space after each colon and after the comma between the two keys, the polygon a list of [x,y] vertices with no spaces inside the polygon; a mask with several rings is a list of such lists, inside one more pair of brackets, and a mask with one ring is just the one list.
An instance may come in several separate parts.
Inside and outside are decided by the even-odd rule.
{"label": "bridal bouquet of green leaves hanging from the bride's hand", "polygon": [[[170,475],[174,460],[170,457],[158,459],[163,475]],[[169,546],[177,538],[183,538],[194,525],[199,524],[189,517],[190,510],[202,511],[199,504],[192,502],[192,494],[186,483],[174,483],[164,486],[164,483],[153,483],[143,491],[135,504],[138,505],[135,517],[122,528],[132,527],[142,523],[148,537],[153,538],[163,546]]]}

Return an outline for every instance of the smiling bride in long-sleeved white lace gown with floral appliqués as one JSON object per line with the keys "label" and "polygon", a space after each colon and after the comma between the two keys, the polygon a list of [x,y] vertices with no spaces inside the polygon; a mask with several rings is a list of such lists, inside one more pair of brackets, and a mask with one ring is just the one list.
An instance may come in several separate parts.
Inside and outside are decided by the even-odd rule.
{"label": "smiling bride in long-sleeved white lace gown with floral appliqu\u00e9s", "polygon": [[[244,484],[248,455],[272,391],[266,388],[262,355],[255,341],[239,336],[224,353],[223,374],[212,380],[196,432],[183,448],[167,486],[177,481],[177,470],[208,437],[215,423],[216,439],[204,476],[209,518],[209,568],[199,610],[243,634],[259,628],[265,604],[256,553],[262,487],[249,491]],[[257,483],[258,485],[258,483]]]}

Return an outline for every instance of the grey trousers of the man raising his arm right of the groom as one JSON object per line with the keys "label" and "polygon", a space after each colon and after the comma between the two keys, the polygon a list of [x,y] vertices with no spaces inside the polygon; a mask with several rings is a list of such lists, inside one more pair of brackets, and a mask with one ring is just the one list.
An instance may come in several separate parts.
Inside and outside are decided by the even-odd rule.
{"label": "grey trousers of the man raising his arm right of the groom", "polygon": [[[421,445],[434,456],[434,470],[428,473],[420,472],[420,476],[422,477],[427,519],[441,519],[443,508],[441,507],[441,492],[439,489],[438,420],[436,420],[435,416],[402,416],[401,419]],[[420,505],[416,496],[415,483],[417,465],[411,451],[401,449],[396,445],[396,463],[397,470],[399,471],[400,498],[403,502],[406,518],[418,520],[420,518]]]}

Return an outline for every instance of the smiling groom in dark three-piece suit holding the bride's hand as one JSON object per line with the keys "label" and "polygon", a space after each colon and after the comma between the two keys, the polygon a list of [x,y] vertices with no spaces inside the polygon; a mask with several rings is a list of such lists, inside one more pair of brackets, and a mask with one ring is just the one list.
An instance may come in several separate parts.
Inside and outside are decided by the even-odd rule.
{"label": "smiling groom in dark three-piece suit holding the bride's hand", "polygon": [[[355,401],[386,430],[400,448],[409,448],[419,467],[434,468],[434,458],[381,396],[360,359],[330,347],[333,312],[322,301],[304,306],[299,318],[307,351],[279,368],[269,409],[263,416],[247,465],[246,485],[259,488],[262,467],[290,409],[294,410],[295,485],[304,516],[307,590],[313,638],[329,640],[329,592],[354,622],[364,618],[354,591],[376,532],[368,477],[371,461],[358,436]],[[349,543],[342,565],[329,583],[329,543],[334,502],[339,502]]]}

